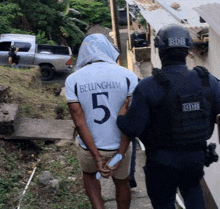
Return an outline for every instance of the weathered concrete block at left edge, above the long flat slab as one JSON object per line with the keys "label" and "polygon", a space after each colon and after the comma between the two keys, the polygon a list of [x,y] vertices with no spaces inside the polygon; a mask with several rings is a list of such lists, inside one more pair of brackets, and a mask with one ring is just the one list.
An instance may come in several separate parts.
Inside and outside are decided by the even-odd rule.
{"label": "weathered concrete block at left edge, above the long flat slab", "polygon": [[18,123],[19,105],[0,104],[0,134],[11,134]]}

